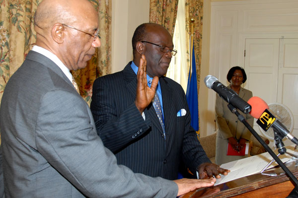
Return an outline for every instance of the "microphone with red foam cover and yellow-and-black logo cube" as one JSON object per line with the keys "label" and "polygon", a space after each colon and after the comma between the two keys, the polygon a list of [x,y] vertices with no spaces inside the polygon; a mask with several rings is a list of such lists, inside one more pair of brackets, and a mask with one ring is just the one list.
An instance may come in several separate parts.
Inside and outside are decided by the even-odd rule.
{"label": "microphone with red foam cover and yellow-and-black logo cube", "polygon": [[252,97],[247,101],[251,106],[250,115],[257,120],[257,124],[267,131],[270,127],[278,131],[283,137],[287,137],[293,143],[298,145],[298,140],[290,134],[288,129],[278,120],[278,116],[270,111],[268,104],[259,97]]}

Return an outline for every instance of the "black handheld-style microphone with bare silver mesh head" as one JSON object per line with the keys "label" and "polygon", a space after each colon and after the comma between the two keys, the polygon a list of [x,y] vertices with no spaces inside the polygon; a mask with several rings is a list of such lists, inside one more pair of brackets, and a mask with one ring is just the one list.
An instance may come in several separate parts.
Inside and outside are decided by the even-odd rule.
{"label": "black handheld-style microphone with bare silver mesh head", "polygon": [[251,106],[246,101],[241,99],[233,90],[226,88],[216,77],[208,75],[204,82],[209,89],[213,89],[222,99],[243,113],[249,113],[251,110]]}

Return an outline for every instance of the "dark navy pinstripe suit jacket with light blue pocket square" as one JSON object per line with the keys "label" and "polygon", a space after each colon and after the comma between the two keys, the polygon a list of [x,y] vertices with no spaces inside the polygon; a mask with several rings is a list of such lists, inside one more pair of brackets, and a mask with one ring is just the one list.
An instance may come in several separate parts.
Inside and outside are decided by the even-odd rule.
{"label": "dark navy pinstripe suit jacket with light blue pocket square", "polygon": [[[112,150],[118,164],[134,172],[152,177],[176,179],[181,160],[194,173],[196,167],[209,162],[194,129],[182,87],[175,81],[160,77],[166,140],[154,107],[145,110],[146,121],[135,105],[137,75],[130,66],[100,77],[93,84],[91,111],[98,135]],[[180,109],[187,111],[177,117]]]}

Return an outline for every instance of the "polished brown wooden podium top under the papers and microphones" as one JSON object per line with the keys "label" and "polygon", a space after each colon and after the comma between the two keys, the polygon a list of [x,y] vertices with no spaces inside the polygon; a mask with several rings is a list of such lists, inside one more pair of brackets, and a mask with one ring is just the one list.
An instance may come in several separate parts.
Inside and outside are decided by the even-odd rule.
{"label": "polished brown wooden podium top under the papers and microphones", "polygon": [[[298,177],[298,162],[286,165],[295,177]],[[286,198],[295,187],[280,167],[269,169],[264,173],[197,189],[180,198]]]}

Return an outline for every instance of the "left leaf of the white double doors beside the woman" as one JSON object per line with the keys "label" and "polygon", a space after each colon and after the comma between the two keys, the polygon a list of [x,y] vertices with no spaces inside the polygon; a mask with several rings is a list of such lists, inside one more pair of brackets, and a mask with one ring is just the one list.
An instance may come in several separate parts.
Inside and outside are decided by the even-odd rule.
{"label": "left leaf of the white double doors beside the woman", "polygon": [[277,99],[279,39],[246,39],[244,88],[267,103]]}

